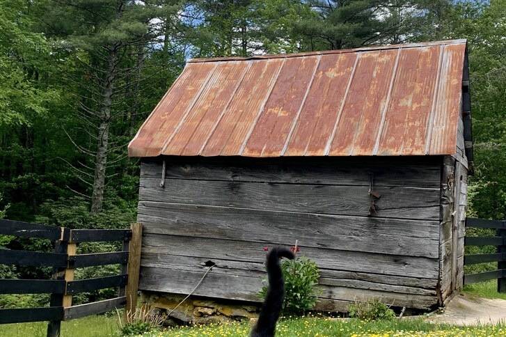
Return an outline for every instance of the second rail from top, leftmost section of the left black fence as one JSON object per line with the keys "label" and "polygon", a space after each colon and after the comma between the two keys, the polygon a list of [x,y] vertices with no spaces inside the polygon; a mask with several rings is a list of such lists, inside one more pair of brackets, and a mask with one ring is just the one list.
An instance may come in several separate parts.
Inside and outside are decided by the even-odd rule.
{"label": "second rail from top, leftmost section of the left black fence", "polygon": [[67,254],[0,249],[0,263],[26,267],[66,267]]}

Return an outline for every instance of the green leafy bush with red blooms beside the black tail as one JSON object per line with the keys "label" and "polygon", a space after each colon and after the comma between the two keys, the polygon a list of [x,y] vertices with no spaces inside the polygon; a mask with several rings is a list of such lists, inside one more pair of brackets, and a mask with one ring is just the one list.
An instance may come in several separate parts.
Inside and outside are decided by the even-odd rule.
{"label": "green leafy bush with red blooms beside the black tail", "polygon": [[[285,279],[283,315],[301,315],[315,307],[318,290],[319,269],[306,257],[283,260],[281,270]],[[260,290],[260,298],[267,295],[267,285]]]}

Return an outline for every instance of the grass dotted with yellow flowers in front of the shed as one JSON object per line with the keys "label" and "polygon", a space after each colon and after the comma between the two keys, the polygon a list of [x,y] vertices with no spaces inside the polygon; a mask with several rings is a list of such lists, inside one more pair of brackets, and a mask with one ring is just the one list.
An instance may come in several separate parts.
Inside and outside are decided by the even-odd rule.
{"label": "grass dotted with yellow flowers in front of the shed", "polygon": [[[248,336],[250,325],[243,323],[214,324],[200,327],[168,329],[144,337],[221,337]],[[506,336],[506,324],[482,327],[453,327],[429,324],[420,319],[365,322],[306,317],[281,320],[276,336]]]}

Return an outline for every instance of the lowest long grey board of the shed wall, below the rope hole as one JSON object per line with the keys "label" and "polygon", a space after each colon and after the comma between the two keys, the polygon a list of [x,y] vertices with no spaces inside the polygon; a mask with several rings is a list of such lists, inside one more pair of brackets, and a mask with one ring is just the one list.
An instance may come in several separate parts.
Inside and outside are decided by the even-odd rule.
{"label": "lowest long grey board of the shed wall, below the rope hole", "polygon": [[[167,277],[171,275],[171,277]],[[141,290],[155,290],[176,294],[189,294],[203,276],[203,272],[189,272],[179,269],[161,269],[141,267]],[[262,288],[262,280],[258,277],[239,275],[207,274],[203,283],[193,292],[193,295],[237,299],[243,301],[261,301],[258,292]],[[346,301],[366,300],[378,298],[386,303],[410,308],[427,308],[436,304],[435,296],[408,295],[395,292],[377,290],[351,289],[319,285],[319,297],[329,299],[344,299]]]}

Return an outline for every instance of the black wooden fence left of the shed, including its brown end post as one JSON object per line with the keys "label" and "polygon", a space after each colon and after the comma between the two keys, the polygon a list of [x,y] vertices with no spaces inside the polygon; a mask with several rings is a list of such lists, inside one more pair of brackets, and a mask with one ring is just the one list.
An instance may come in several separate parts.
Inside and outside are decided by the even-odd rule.
{"label": "black wooden fence left of the shed, including its brown end post", "polygon": [[[132,240],[132,233],[134,233]],[[49,321],[47,336],[59,336],[62,320],[104,313],[136,305],[139,282],[141,225],[132,229],[75,229],[0,220],[0,235],[38,237],[54,242],[54,253],[0,249],[0,263],[26,267],[53,267],[49,280],[0,279],[0,294],[51,294],[50,303],[41,308],[0,309],[0,324]],[[122,251],[76,254],[79,242],[121,241]],[[138,242],[139,241],[139,242]],[[74,280],[74,269],[97,265],[122,266],[121,274],[95,279]],[[130,277],[129,277],[130,276]],[[105,288],[118,288],[118,296],[72,306],[72,295]]]}

